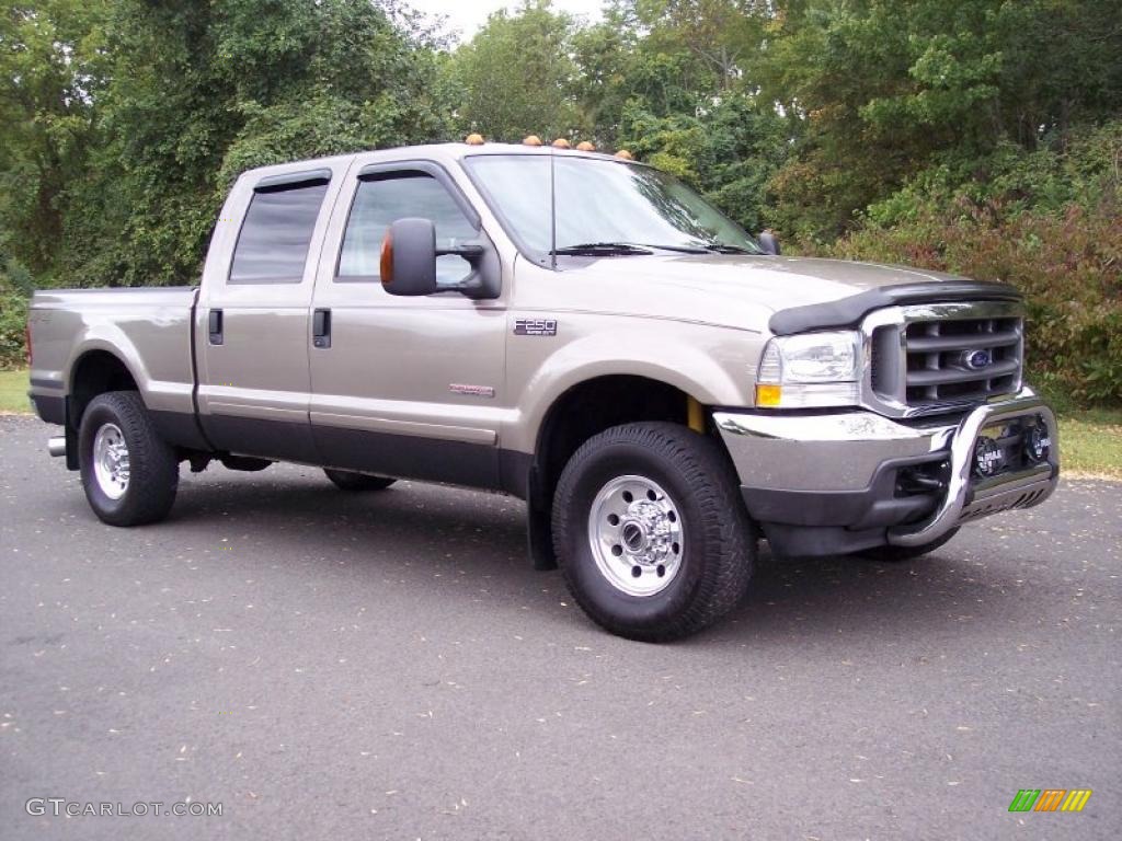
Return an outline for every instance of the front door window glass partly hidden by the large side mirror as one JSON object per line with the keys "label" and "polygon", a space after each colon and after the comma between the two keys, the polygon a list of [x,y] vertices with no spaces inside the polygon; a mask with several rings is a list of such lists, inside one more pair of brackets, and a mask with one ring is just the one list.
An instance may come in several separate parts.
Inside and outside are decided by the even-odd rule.
{"label": "front door window glass partly hidden by the large side mirror", "polygon": [[[362,181],[347,220],[339,279],[377,280],[386,229],[398,219],[408,218],[432,220],[436,227],[436,248],[452,248],[479,235],[451,194],[430,175],[395,173]],[[462,257],[436,258],[436,283],[441,285],[459,283],[470,271]]]}

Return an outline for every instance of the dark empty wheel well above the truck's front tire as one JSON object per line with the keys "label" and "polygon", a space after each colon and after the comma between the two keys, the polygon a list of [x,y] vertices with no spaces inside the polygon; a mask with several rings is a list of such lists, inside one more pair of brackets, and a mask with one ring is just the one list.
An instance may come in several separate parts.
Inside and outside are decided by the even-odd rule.
{"label": "dark empty wheel well above the truck's front tire", "polygon": [[565,391],[550,407],[537,435],[531,497],[549,506],[561,471],[581,444],[620,424],[669,420],[687,424],[690,397],[645,377],[598,377]]}

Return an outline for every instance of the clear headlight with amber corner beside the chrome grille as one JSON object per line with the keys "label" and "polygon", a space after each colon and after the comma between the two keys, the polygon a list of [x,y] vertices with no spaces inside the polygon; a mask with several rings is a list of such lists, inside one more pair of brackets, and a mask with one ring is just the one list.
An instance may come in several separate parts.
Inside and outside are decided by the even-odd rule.
{"label": "clear headlight with amber corner beside the chrome grille", "polygon": [[775,336],[756,373],[756,406],[854,406],[861,398],[861,335],[852,330]]}

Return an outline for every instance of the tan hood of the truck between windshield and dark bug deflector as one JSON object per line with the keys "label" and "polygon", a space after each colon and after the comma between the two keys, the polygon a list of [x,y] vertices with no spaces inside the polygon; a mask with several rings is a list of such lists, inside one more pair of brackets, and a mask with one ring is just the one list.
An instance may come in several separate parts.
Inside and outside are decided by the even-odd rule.
{"label": "tan hood of the truck between windshield and dark bug deflector", "polygon": [[[829,321],[833,311],[834,321],[848,323],[852,316],[846,314],[864,308],[862,302],[870,304],[866,312],[894,303],[892,294],[898,288],[911,290],[912,299],[927,301],[963,299],[964,293],[974,297],[1017,297],[1015,290],[1002,284],[975,283],[939,271],[809,257],[610,257],[580,260],[565,271],[570,272],[600,289],[597,308],[605,308],[607,298],[624,302],[623,306],[610,307],[620,314],[755,331],[763,331],[771,323],[774,332],[788,332],[774,329],[772,316],[779,313],[787,316],[790,311],[808,314],[818,311]],[[605,289],[610,292],[605,294]],[[845,303],[831,307],[839,302]]]}

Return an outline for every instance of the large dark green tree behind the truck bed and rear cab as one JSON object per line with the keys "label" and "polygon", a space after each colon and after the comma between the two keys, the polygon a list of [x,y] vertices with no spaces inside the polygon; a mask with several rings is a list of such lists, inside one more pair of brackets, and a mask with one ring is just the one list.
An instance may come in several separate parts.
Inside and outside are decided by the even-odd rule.
{"label": "large dark green tree behind the truck bed and rear cab", "polygon": [[111,29],[103,141],[67,225],[82,283],[193,281],[248,167],[448,133],[434,45],[396,7],[116,0]]}

